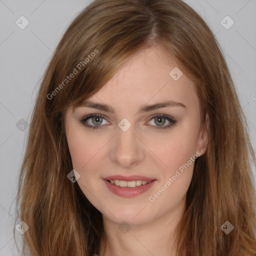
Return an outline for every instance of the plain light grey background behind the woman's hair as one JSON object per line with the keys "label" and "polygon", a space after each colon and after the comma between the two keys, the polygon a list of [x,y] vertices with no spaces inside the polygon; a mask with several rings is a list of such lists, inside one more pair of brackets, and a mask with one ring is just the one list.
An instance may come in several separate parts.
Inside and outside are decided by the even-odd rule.
{"label": "plain light grey background behind the woman's hair", "polygon": [[[256,0],[185,1],[201,14],[220,43],[255,150]],[[12,235],[13,200],[28,129],[23,126],[22,130],[16,124],[24,120],[29,123],[40,79],[52,52],[68,24],[89,2],[0,0],[0,256],[17,255]],[[29,21],[24,29],[15,23],[21,15]],[[220,23],[227,15],[234,21],[229,29]],[[228,19],[223,22],[230,24]],[[254,166],[253,173],[256,176]],[[16,237],[21,234],[17,232]]]}

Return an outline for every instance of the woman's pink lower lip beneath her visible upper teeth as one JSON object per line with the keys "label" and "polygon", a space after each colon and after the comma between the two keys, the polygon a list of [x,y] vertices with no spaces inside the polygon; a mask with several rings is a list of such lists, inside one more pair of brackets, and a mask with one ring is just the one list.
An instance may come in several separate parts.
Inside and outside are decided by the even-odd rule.
{"label": "woman's pink lower lip beneath her visible upper teeth", "polygon": [[150,189],[154,183],[156,182],[155,180],[152,180],[150,183],[147,183],[145,185],[140,185],[140,186],[135,186],[135,187],[121,187],[121,186],[117,186],[115,184],[112,184],[110,182],[108,182],[107,180],[103,179],[107,188],[119,195],[119,196],[123,196],[123,197],[133,197],[139,194],[142,194],[143,192],[147,191],[148,189]]}

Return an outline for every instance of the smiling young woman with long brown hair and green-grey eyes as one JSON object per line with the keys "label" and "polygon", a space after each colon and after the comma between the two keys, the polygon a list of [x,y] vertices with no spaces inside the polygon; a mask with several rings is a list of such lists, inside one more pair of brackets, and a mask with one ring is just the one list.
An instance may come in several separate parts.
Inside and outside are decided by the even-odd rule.
{"label": "smiling young woman with long brown hair and green-grey eyes", "polygon": [[256,255],[255,162],[209,27],[94,0],[45,71],[19,177],[31,255]]}

